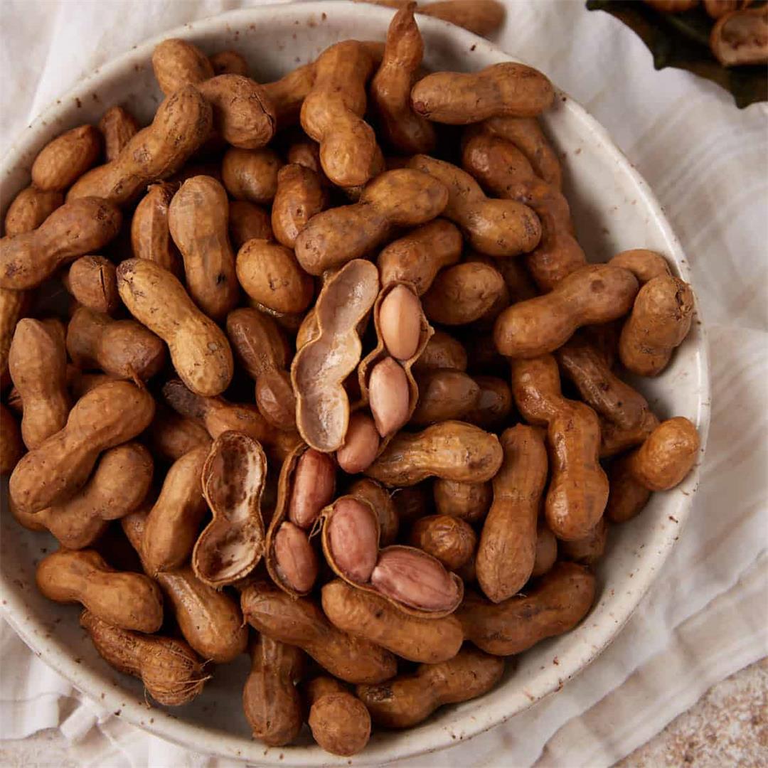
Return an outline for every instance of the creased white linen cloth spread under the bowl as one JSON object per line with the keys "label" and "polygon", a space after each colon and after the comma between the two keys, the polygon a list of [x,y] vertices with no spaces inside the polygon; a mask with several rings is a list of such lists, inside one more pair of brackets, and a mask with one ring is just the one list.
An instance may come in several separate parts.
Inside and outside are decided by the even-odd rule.
{"label": "creased white linen cloth spread under the bowl", "polygon": [[[0,0],[3,145],[79,78],[131,45],[244,5],[253,3]],[[504,726],[402,765],[538,761],[598,768],[768,653],[768,107],[740,111],[709,81],[654,71],[629,29],[577,0],[507,5],[498,43],[545,71],[601,121],[650,183],[683,243],[710,335],[712,427],[690,522],[614,643],[559,694]],[[230,764],[111,717],[5,623],[0,644],[0,737],[60,727],[83,766]],[[71,713],[62,718],[62,711]]]}

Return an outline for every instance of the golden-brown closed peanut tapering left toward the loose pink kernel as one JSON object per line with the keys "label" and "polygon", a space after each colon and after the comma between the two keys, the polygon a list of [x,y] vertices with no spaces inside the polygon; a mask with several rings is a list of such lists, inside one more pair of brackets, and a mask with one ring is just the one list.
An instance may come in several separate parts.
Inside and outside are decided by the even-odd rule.
{"label": "golden-brown closed peanut tapering left toward the loose pink kernel", "polygon": [[496,435],[463,422],[441,422],[422,432],[400,432],[366,469],[385,485],[415,485],[428,477],[485,482],[502,464]]}

